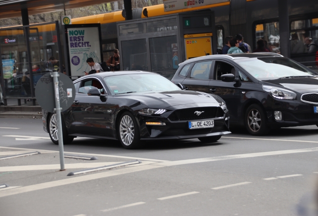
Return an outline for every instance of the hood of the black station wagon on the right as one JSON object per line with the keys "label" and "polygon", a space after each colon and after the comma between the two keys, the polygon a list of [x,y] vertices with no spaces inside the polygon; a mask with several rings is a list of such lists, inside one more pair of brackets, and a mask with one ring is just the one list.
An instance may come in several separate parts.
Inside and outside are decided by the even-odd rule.
{"label": "hood of the black station wagon on the right", "polygon": [[263,80],[300,93],[318,92],[318,77]]}

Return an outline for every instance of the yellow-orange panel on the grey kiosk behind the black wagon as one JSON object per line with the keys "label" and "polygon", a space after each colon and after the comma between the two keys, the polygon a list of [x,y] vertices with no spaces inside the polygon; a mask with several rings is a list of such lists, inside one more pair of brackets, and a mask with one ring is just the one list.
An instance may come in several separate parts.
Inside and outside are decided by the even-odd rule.
{"label": "yellow-orange panel on the grey kiosk behind the black wagon", "polygon": [[212,33],[184,34],[185,59],[212,54]]}

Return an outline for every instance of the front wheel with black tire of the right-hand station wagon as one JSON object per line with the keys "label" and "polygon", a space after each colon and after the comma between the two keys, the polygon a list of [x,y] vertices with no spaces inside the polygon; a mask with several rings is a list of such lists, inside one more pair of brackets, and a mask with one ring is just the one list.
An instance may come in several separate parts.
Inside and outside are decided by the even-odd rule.
{"label": "front wheel with black tire of the right-hand station wagon", "polygon": [[265,112],[259,105],[251,104],[248,106],[245,112],[245,126],[252,135],[266,135],[269,132]]}

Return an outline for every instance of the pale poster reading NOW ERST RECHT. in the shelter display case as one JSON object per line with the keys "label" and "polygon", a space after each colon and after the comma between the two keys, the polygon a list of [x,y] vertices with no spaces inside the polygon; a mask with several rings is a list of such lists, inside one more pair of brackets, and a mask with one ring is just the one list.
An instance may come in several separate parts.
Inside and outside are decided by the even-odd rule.
{"label": "pale poster reading NOW ERST RECHT. in the shelter display case", "polygon": [[85,75],[90,68],[86,63],[92,57],[94,62],[101,61],[100,33],[97,26],[67,27],[67,43],[71,76]]}

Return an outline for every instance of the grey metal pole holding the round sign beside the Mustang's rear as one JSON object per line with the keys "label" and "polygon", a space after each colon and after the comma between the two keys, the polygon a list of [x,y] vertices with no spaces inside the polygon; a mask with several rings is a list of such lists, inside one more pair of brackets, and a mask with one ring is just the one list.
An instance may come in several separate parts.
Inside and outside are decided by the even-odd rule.
{"label": "grey metal pole holding the round sign beside the Mustang's rear", "polygon": [[60,116],[60,110],[62,109],[59,106],[59,86],[58,86],[58,72],[51,72],[51,77],[53,77],[54,83],[54,92],[55,92],[55,112],[57,120],[57,137],[58,137],[58,148],[59,148],[59,161],[60,161],[60,171],[65,170],[64,167],[64,148],[63,148],[63,132],[62,132],[62,121]]}

